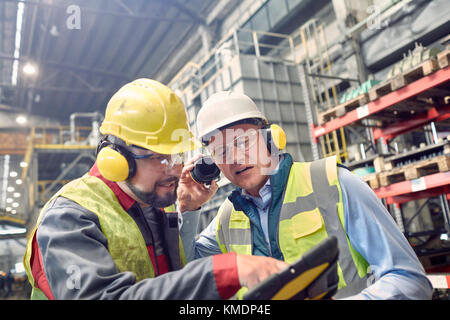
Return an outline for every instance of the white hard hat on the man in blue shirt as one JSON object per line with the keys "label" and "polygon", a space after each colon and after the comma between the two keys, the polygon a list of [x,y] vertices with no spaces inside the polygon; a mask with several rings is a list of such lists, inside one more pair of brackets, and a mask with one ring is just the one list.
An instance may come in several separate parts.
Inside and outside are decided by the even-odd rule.
{"label": "white hard hat on the man in blue shirt", "polygon": [[209,97],[197,114],[197,130],[201,140],[215,130],[244,119],[262,119],[266,117],[256,104],[245,94],[221,91]]}

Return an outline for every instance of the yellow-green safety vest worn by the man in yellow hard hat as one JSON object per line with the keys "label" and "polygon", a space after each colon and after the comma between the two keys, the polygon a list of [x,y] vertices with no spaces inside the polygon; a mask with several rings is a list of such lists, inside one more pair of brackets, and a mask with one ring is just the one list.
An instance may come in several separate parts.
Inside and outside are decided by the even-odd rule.
{"label": "yellow-green safety vest worn by the man in yellow hard hat", "polygon": [[[63,186],[46,203],[28,239],[24,266],[33,288],[31,299],[47,299],[45,294],[35,287],[31,272],[32,240],[47,206],[59,196],[70,199],[97,215],[102,232],[108,241],[108,251],[120,272],[133,272],[136,282],[155,276],[145,240],[133,218],[123,209],[113,191],[103,181],[86,174]],[[178,237],[178,240],[179,261],[177,264],[182,267],[187,262],[181,238]]]}

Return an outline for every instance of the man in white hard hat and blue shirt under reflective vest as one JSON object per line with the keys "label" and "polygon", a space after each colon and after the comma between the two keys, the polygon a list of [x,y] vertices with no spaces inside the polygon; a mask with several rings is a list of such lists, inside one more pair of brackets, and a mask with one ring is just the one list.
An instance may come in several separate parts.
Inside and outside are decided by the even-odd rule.
{"label": "man in white hard hat and blue shirt under reflective vest", "polygon": [[[236,189],[189,248],[191,257],[236,252],[292,263],[336,236],[335,298],[431,298],[424,269],[394,220],[368,185],[335,157],[294,162],[282,153],[283,130],[269,126],[243,94],[212,95],[197,115],[197,128]],[[194,213],[186,217],[195,225]]]}

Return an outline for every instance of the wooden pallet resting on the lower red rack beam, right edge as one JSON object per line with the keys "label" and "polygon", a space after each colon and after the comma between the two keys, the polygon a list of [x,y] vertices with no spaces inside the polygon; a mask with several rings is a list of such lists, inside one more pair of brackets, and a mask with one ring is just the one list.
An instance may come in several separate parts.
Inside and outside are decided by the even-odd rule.
{"label": "wooden pallet resting on the lower red rack beam, right edge", "polygon": [[418,161],[401,168],[394,168],[390,171],[378,174],[382,187],[393,183],[417,179],[437,172],[450,171],[450,155],[442,155],[432,159]]}

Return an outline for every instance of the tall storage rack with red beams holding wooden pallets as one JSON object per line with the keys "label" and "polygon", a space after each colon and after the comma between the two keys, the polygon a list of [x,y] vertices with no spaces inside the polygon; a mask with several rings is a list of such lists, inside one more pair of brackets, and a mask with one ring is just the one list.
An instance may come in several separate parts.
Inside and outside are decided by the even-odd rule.
{"label": "tall storage rack with red beams holding wooden pallets", "polygon": [[[360,104],[356,103],[349,107],[349,104],[342,106],[342,111],[334,117],[322,121],[319,125],[311,125],[311,135],[317,143],[319,137],[342,129],[348,126],[365,126],[363,121],[370,120],[371,140],[374,150],[380,150],[379,154],[369,156],[366,159],[350,163],[353,168],[363,167],[366,164],[373,165],[375,173],[366,176],[366,182],[372,187],[378,198],[382,199],[388,206],[400,229],[407,238],[427,236],[441,233],[447,235],[450,232],[450,216],[448,200],[450,200],[450,141],[439,141],[436,134],[436,125],[450,119],[450,67],[448,63],[449,49],[438,55],[438,59],[432,58],[426,61],[423,66],[423,73],[411,80],[402,74],[397,76],[397,81],[403,83],[396,88],[391,87],[380,94],[374,88],[370,94],[365,94],[363,98],[369,98]],[[439,62],[439,63],[438,63]],[[427,68],[425,70],[425,67]],[[431,68],[431,69],[430,69]],[[386,82],[388,82],[386,81]],[[379,86],[378,86],[379,87]],[[370,99],[372,98],[372,99]],[[318,115],[319,119],[323,119]],[[367,122],[366,122],[367,123]],[[410,133],[430,125],[433,131],[432,144],[418,150],[400,156],[392,156],[390,153],[390,142],[397,136]],[[378,143],[378,148],[376,144]],[[378,151],[377,150],[377,151]],[[439,157],[434,155],[442,154]],[[415,162],[404,161],[408,156],[418,155]],[[425,156],[428,160],[424,160]],[[422,158],[420,158],[422,156]],[[430,161],[430,156],[435,159]],[[386,161],[387,160],[387,161]],[[439,161],[438,161],[439,160]],[[394,168],[392,164],[397,162]],[[425,162],[428,161],[428,162]],[[417,170],[423,164],[425,169]],[[416,169],[416,175],[406,175],[408,168]],[[395,171],[397,170],[397,171]],[[396,179],[387,179],[394,177]],[[392,176],[389,176],[392,175]],[[413,177],[413,178],[411,178]],[[408,201],[419,199],[440,197],[444,228],[440,230],[408,232],[405,230],[401,205]],[[449,278],[450,264],[445,264],[435,268],[427,262],[426,257],[450,255],[450,248],[440,249],[417,249],[416,254],[421,259],[427,272],[447,273],[443,279]],[[435,277],[433,275],[433,277]],[[450,279],[450,278],[449,278]],[[442,280],[442,279],[441,279]],[[448,279],[447,279],[448,280]],[[448,288],[449,283],[444,283],[443,288]],[[441,284],[442,285],[442,284]]]}

